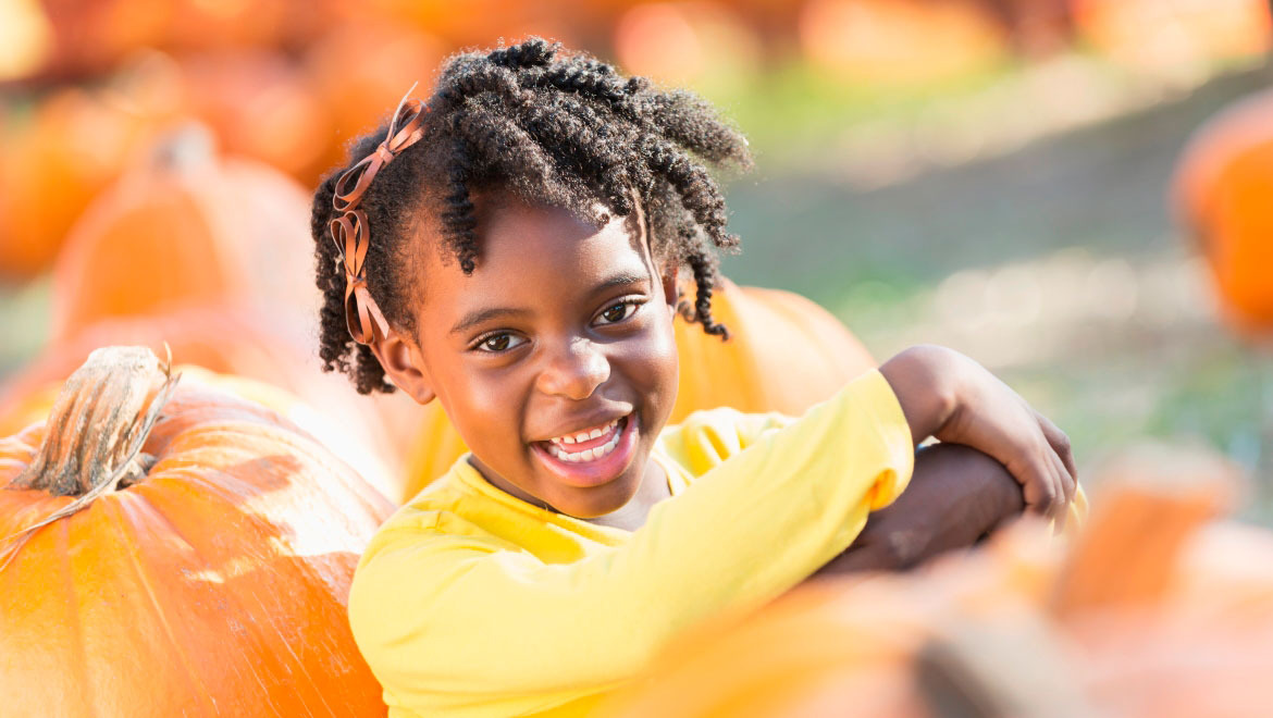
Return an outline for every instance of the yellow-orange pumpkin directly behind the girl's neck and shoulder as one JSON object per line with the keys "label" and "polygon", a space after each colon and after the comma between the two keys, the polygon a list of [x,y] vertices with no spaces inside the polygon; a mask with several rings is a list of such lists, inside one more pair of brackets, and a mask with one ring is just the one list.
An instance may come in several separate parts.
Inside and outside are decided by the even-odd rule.
{"label": "yellow-orange pumpkin directly behind the girl's neck and shoulder", "polygon": [[[712,307],[717,321],[729,327],[728,341],[680,317],[675,323],[681,379],[673,424],[718,406],[799,415],[875,367],[839,320],[798,294],[723,280]],[[418,426],[407,449],[407,496],[467,451],[438,402],[424,407]]]}

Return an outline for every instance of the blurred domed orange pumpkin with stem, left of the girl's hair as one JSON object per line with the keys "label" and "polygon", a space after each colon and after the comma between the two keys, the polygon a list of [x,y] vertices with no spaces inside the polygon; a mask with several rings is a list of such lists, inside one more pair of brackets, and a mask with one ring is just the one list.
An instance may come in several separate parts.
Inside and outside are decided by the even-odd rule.
{"label": "blurred domed orange pumpkin with stem, left of the girl's hair", "polygon": [[75,223],[53,269],[52,336],[107,317],[243,302],[314,316],[309,197],[187,127],[159,140]]}

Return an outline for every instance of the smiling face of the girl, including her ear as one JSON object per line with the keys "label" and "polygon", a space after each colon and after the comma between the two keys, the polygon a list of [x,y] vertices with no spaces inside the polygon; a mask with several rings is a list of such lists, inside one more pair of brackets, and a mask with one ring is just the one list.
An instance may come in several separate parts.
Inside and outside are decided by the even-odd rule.
{"label": "smiling face of the girl, including her ear", "polygon": [[676,398],[675,274],[635,214],[598,230],[498,196],[477,220],[471,276],[426,252],[416,337],[398,349],[410,369],[390,356],[390,377],[442,401],[495,486],[579,518],[614,512],[661,477],[648,457]]}

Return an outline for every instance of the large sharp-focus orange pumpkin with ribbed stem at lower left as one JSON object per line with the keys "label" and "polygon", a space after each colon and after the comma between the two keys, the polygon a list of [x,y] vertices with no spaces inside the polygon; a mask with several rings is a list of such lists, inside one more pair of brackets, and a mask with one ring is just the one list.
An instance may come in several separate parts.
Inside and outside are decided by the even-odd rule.
{"label": "large sharp-focus orange pumpkin with ribbed stem at lower left", "polygon": [[276,414],[107,348],[0,439],[5,715],[383,715],[345,617],[392,510]]}

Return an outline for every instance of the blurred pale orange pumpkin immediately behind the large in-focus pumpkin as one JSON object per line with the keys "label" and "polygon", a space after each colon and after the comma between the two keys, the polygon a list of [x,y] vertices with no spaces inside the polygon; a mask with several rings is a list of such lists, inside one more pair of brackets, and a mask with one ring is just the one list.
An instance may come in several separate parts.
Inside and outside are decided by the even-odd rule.
{"label": "blurred pale orange pumpkin immediately behind the large in-focus pumpkin", "polygon": [[[304,418],[255,390],[252,398],[288,415],[323,439],[376,486],[400,503],[404,496],[400,452],[419,407],[400,396],[360,397],[349,381],[322,372],[313,348],[312,317],[279,308],[206,306],[145,317],[107,318],[48,346],[25,369],[0,383],[0,437],[19,432],[48,412],[61,382],[97,348],[141,345],[173,360],[219,374],[279,387],[317,414]],[[242,381],[241,379],[241,381]],[[241,392],[242,393],[242,392]],[[298,409],[299,411],[299,409]],[[339,430],[327,430],[330,426]]]}

